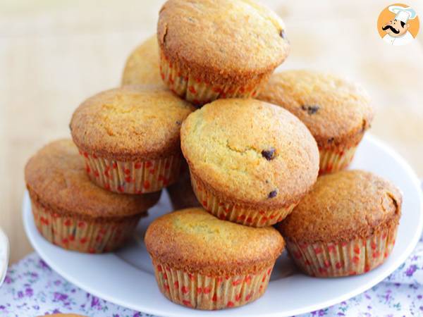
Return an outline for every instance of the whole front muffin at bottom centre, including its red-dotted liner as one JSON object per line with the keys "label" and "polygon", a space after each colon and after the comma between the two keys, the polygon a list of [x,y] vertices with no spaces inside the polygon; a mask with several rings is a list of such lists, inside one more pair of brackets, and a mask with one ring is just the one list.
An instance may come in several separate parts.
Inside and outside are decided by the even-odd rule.
{"label": "whole front muffin at bottom centre, including its red-dotted liner", "polygon": [[164,296],[176,304],[212,310],[262,296],[283,238],[274,228],[249,228],[193,208],[154,220],[145,245]]}

